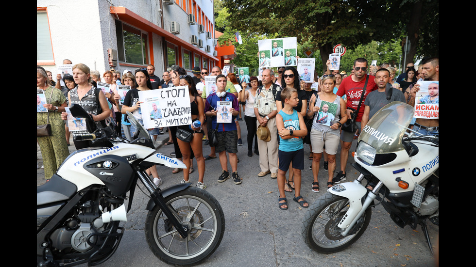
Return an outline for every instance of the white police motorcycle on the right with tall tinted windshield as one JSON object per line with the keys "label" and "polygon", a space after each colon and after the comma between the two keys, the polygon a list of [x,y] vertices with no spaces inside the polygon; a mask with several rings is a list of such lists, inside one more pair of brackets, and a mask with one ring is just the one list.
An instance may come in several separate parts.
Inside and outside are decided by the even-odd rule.
{"label": "white police motorcycle on the right with tall tinted windshield", "polygon": [[[303,218],[302,236],[314,251],[342,251],[362,236],[371,207],[382,204],[396,225],[421,225],[433,252],[426,221],[438,225],[439,137],[410,130],[413,107],[392,102],[362,129],[352,164],[361,174],[333,186]],[[364,181],[365,179],[365,181]]]}

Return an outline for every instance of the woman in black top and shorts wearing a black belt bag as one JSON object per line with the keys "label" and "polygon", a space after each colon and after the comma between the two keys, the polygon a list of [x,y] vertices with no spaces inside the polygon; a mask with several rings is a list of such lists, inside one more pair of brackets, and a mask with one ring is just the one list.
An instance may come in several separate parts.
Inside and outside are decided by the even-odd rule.
{"label": "woman in black top and shorts wearing a black belt bag", "polygon": [[[198,94],[195,84],[190,76],[182,76],[180,79],[180,86],[188,86],[188,96],[190,97],[190,114],[192,119],[192,124],[178,126],[178,129],[185,130],[192,134],[192,140],[190,142],[185,142],[177,138],[177,144],[182,153],[183,162],[187,166],[187,170],[184,171],[184,179],[180,183],[188,183],[188,175],[191,168],[191,152],[197,160],[198,166],[198,182],[196,187],[205,189],[204,185],[204,174],[205,174],[205,160],[203,157],[203,148],[202,148],[202,138],[204,136],[204,131],[202,125],[205,121],[204,114],[204,102],[200,94]],[[200,126],[197,126],[200,122]]]}

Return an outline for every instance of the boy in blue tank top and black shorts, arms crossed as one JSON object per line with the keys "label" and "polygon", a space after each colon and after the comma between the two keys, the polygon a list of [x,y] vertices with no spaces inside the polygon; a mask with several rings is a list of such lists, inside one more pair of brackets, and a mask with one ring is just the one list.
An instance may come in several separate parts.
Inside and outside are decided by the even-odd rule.
{"label": "boy in blue tank top and black shorts, arms crossed", "polygon": [[292,162],[295,188],[293,199],[303,208],[307,208],[309,204],[301,196],[301,170],[304,169],[303,138],[307,135],[307,128],[301,113],[292,109],[299,103],[296,89],[285,88],[281,91],[281,99],[284,99],[284,108],[276,115],[279,134],[278,206],[280,209],[288,209],[284,183],[289,164]]}

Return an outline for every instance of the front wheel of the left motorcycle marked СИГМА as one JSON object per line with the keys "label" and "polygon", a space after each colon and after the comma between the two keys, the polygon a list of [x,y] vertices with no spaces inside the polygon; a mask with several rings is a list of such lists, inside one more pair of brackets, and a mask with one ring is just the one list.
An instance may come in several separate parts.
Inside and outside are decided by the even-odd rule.
{"label": "front wheel of the left motorcycle marked \u0421\u0418\u0413\u041c\u0410", "polygon": [[193,265],[208,258],[220,245],[225,217],[218,201],[207,191],[188,187],[165,199],[179,221],[190,226],[182,238],[156,205],[149,211],[145,236],[150,249],[161,261],[174,265]]}

